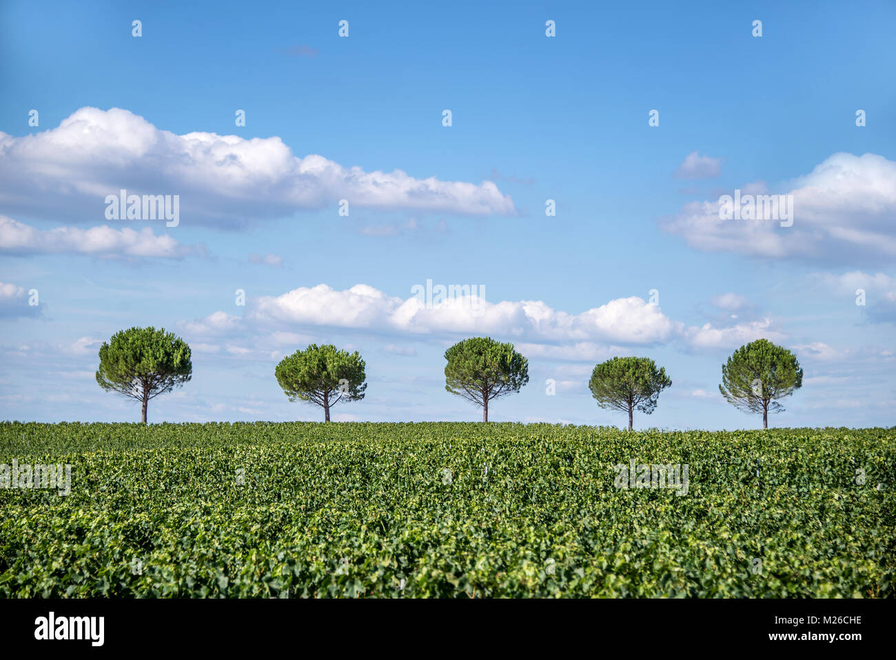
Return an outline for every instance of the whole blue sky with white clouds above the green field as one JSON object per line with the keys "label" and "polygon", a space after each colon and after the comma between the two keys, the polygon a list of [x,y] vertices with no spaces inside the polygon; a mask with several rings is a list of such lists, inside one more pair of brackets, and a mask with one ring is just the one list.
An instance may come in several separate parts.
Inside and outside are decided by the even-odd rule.
{"label": "whole blue sky with white clouds above the green field", "polygon": [[[718,384],[764,336],[806,370],[771,425],[890,426],[894,19],[883,2],[2,2],[0,419],[139,419],[93,374],[111,334],[153,325],[191,344],[194,378],[150,421],[321,419],[273,378],[311,342],[366,359],[366,399],[334,419],[475,421],[443,354],[488,334],[530,360],[494,421],[623,425],[587,389],[618,354],[673,380],[637,428],[754,428]],[[121,188],[178,195],[177,226],[109,220]],[[719,220],[736,189],[792,195],[792,226]],[[427,280],[484,301],[426,308]]]}

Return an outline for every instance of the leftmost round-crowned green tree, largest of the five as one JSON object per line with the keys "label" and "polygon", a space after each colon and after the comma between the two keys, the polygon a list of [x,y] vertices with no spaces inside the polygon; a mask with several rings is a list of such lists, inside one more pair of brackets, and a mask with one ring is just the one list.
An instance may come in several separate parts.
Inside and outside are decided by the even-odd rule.
{"label": "leftmost round-crowned green tree, largest of the five", "polygon": [[165,328],[132,327],[99,347],[97,383],[142,404],[141,421],[151,399],[183,386],[193,374],[190,347]]}

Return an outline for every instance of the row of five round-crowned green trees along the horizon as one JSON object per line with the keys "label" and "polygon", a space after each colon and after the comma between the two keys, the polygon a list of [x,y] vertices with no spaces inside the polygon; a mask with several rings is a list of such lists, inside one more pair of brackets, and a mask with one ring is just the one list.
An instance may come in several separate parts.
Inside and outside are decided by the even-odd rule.
{"label": "row of five round-crowned green trees along the horizon", "polygon": [[[481,406],[482,421],[488,421],[489,402],[519,392],[529,382],[529,360],[512,343],[473,337],[455,343],[444,357],[445,390]],[[319,405],[324,421],[330,421],[333,405],[364,398],[365,367],[357,351],[313,343],[280,360],[274,375],[289,401]],[[99,386],[141,402],[144,424],[150,400],[183,386],[192,373],[190,347],[164,328],[132,327],[99,349]],[[719,392],[744,412],[762,413],[762,428],[767,429],[769,413],[783,411],[780,399],[802,384],[797,357],[757,339],[737,349],[722,366]],[[653,412],[659,394],[671,385],[666,369],[649,358],[635,357],[601,362],[588,384],[601,407],[628,413],[629,430],[634,411]]]}

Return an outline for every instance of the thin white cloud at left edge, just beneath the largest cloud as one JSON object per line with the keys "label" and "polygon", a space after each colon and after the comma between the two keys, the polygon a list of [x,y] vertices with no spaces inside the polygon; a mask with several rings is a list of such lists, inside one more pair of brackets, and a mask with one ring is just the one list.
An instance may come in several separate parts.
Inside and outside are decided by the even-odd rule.
{"label": "thin white cloud at left edge, just beneath the largest cloud", "polygon": [[13,255],[79,254],[100,257],[159,257],[177,259],[204,254],[204,247],[184,246],[150,227],[120,230],[107,225],[81,229],[56,227],[37,230],[0,215],[0,252]]}

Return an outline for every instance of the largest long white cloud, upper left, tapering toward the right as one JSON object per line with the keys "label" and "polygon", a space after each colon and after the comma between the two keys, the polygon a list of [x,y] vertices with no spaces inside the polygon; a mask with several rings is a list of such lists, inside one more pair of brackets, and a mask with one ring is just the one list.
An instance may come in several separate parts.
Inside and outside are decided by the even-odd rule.
{"label": "largest long white cloud, upper left, tapering toward the right", "polygon": [[105,221],[105,197],[179,195],[185,224],[239,224],[339,200],[350,207],[475,215],[515,213],[492,181],[473,184],[299,157],[280,137],[176,135],[125,109],[82,108],[56,128],[0,132],[0,204],[29,217]]}

